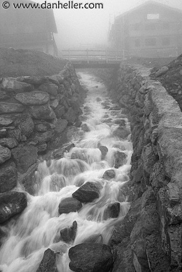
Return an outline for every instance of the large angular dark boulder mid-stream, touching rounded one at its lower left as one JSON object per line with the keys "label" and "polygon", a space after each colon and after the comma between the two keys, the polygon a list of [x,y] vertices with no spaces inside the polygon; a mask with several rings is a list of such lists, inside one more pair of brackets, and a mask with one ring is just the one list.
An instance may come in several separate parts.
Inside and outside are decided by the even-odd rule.
{"label": "large angular dark boulder mid-stream, touching rounded one at its lower left", "polygon": [[100,187],[96,182],[86,182],[79,187],[72,196],[82,203],[91,202],[99,197]]}

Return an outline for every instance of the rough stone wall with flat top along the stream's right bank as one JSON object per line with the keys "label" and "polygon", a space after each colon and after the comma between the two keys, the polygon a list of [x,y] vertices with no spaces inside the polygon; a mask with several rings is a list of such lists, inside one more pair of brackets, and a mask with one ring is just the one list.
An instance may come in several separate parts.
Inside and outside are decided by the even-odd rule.
{"label": "rough stone wall with flat top along the stream's right bank", "polygon": [[131,122],[131,208],[110,240],[112,272],[182,270],[182,112],[143,67],[98,70]]}

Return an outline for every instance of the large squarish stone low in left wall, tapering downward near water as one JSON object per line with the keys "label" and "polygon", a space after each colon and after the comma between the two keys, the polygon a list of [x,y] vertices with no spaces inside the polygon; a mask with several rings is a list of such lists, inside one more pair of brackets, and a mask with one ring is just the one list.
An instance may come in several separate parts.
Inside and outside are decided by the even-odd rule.
{"label": "large squarish stone low in left wall, tapering downward near water", "polygon": [[20,173],[25,173],[37,161],[37,148],[32,145],[19,145],[11,149],[11,154]]}

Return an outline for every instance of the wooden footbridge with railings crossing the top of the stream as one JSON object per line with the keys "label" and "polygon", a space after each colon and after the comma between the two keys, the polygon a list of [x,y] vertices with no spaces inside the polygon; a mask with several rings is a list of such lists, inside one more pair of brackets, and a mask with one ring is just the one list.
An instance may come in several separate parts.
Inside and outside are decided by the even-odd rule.
{"label": "wooden footbridge with railings crossing the top of the stream", "polygon": [[114,68],[119,67],[123,60],[123,51],[66,49],[62,57],[69,59],[74,68]]}

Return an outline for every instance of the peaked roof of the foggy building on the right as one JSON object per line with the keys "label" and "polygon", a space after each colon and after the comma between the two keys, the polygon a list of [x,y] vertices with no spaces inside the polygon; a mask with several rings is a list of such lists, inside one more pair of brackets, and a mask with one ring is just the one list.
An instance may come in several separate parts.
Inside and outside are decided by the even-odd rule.
{"label": "peaked roof of the foggy building on the right", "polygon": [[166,5],[166,4],[162,4],[162,3],[158,3],[158,2],[153,1],[153,0],[149,0],[149,1],[146,1],[145,3],[140,4],[140,5],[134,7],[134,8],[132,8],[132,9],[126,11],[126,12],[123,12],[122,14],[118,15],[118,16],[116,17],[116,19],[117,19],[117,18],[124,17],[125,15],[131,14],[131,13],[137,11],[137,10],[140,10],[142,7],[145,7],[145,6],[149,5],[149,4],[154,4],[154,5],[157,5],[157,6],[159,6],[159,7],[167,8],[167,9],[170,9],[170,10],[172,10],[172,11],[175,11],[175,12],[178,12],[178,13],[182,13],[182,10],[179,9],[179,8],[175,8],[175,7]]}

